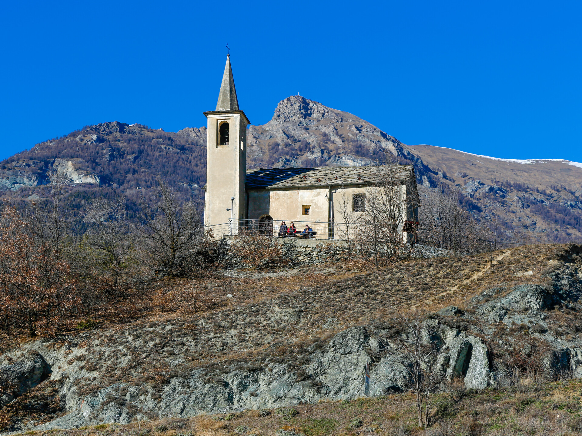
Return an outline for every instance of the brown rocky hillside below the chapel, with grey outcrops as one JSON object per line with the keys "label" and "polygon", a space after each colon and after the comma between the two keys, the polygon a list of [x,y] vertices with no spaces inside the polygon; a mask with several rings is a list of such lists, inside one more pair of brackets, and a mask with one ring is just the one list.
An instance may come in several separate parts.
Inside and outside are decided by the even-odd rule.
{"label": "brown rocky hillside below the chapel, with grey outcrops", "polygon": [[[534,245],[377,270],[343,262],[215,270],[193,280],[164,281],[79,323],[77,333],[5,349],[0,370],[15,388],[0,397],[6,405],[0,423],[40,433],[165,419],[155,424],[158,433],[191,426],[200,436],[235,434],[231,423],[215,426],[219,417],[187,421],[212,413],[235,419],[237,426],[258,427],[263,435],[275,435],[282,425],[306,428],[310,419],[322,417],[352,434],[341,421],[344,410],[350,420],[361,418],[360,426],[375,425],[379,434],[394,434],[391,421],[410,431],[414,414],[406,396],[386,402],[386,395],[406,385],[406,370],[382,344],[405,337],[401,317],[421,310],[427,337],[439,344],[432,362],[443,383],[452,383],[461,396],[435,410],[439,425],[456,426],[450,420],[460,414],[474,426],[494,429],[507,416],[492,408],[509,405],[509,413],[516,406],[521,413],[542,401],[538,416],[567,409],[555,422],[571,426],[579,408],[569,402],[577,391],[544,383],[580,377],[582,371],[581,255],[577,245]],[[212,305],[196,309],[196,291]],[[375,399],[354,401],[363,396],[366,362]],[[520,374],[537,381],[516,384]],[[324,404],[306,406],[317,403]],[[294,412],[274,410],[272,417],[256,419],[268,415],[259,410],[293,407],[300,411],[296,419]],[[470,414],[475,407],[481,414]]]}

